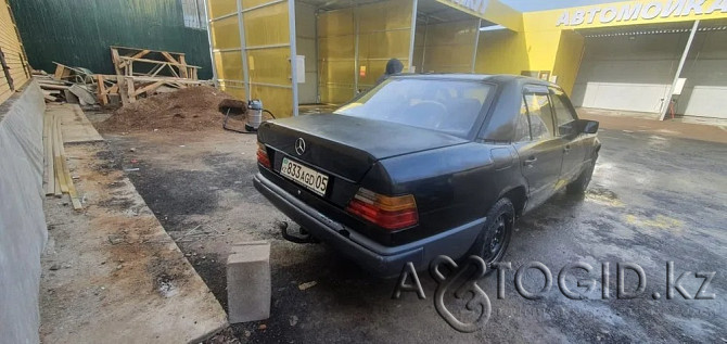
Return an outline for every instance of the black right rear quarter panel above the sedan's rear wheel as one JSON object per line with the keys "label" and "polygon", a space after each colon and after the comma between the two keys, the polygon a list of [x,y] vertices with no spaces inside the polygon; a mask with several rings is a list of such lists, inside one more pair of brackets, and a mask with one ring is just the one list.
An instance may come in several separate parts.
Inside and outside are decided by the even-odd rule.
{"label": "black right rear quarter panel above the sedan's rear wheel", "polygon": [[382,160],[361,181],[374,192],[413,194],[419,225],[392,233],[392,245],[482,218],[501,194],[523,184],[510,145],[469,142]]}

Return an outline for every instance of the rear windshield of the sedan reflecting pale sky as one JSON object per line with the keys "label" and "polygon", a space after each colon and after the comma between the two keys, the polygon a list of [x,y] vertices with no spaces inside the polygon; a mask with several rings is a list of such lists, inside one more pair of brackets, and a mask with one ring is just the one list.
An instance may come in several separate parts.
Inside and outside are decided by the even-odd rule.
{"label": "rear windshield of the sedan reflecting pale sky", "polygon": [[334,113],[467,137],[490,90],[480,81],[388,78]]}

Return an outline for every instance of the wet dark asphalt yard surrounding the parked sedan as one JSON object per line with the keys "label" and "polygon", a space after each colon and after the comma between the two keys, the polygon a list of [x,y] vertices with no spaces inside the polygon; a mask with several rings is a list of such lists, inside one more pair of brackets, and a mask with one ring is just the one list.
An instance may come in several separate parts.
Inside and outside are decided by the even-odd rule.
{"label": "wet dark asphalt yard surrounding the parked sedan", "polygon": [[[479,280],[490,316],[474,332],[460,333],[437,313],[438,283],[426,271],[419,273],[425,300],[414,293],[392,300],[395,280],[374,279],[323,244],[282,240],[279,226],[290,220],[252,186],[254,136],[216,130],[106,138],[124,168],[139,168],[127,171],[129,178],[224,307],[230,244],[271,242],[270,319],[233,324],[230,337],[218,341],[235,341],[233,335],[250,343],[727,342],[724,143],[602,129],[586,195],[557,194],[515,224],[505,256],[512,269],[503,271],[503,298],[497,273]],[[545,265],[552,278],[540,293],[544,273],[523,268],[523,288],[536,300],[515,286],[515,271],[530,262]],[[675,280],[685,273],[679,285],[689,300],[674,284],[667,288],[668,262]],[[577,263],[592,269],[567,269],[564,284],[584,300],[566,297],[558,283],[560,270]],[[618,265],[643,271],[646,284],[635,298],[625,298],[639,284],[629,268],[623,273],[624,297],[617,295]],[[578,286],[578,280],[582,285],[594,280],[592,289]],[[445,293],[447,309],[476,319],[451,292]]]}

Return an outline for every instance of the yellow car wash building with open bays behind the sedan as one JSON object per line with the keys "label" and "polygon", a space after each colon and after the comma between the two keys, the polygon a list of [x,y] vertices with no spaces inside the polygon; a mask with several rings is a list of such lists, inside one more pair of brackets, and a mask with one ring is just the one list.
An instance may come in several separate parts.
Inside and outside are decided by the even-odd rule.
{"label": "yellow car wash building with open bays behind the sedan", "polygon": [[[310,16],[296,17],[302,4],[311,8]],[[643,104],[625,99],[613,106],[633,105],[635,111],[659,113],[668,106],[669,91],[684,87],[677,85],[678,74],[691,59],[692,40],[714,41],[705,43],[707,50],[722,60],[722,34],[700,37],[694,33],[724,30],[727,0],[638,0],[525,13],[498,0],[208,0],[208,18],[219,86],[243,99],[260,98],[266,107],[281,116],[295,115],[301,103],[345,103],[372,87],[392,58],[403,62],[405,73],[545,78],[582,98],[584,104],[607,109],[607,98],[620,97],[618,87],[643,84],[651,90],[643,94]],[[296,41],[303,38],[296,35],[296,27],[301,28],[297,22],[310,21],[315,29],[307,36],[315,48],[301,55]],[[648,42],[642,39],[647,34],[665,36]],[[609,37],[624,39],[607,42]],[[654,43],[662,40],[666,43]],[[678,43],[672,47],[669,41]],[[628,62],[620,61],[620,56],[599,60],[596,52],[604,43],[612,44],[613,50],[629,50],[623,58]],[[642,69],[639,61],[660,49],[663,56],[654,59],[671,62],[659,76],[614,81],[605,80],[608,72],[599,72],[620,65],[623,71]],[[588,60],[585,74],[581,73],[584,56]],[[661,68],[658,65],[653,64],[654,68]],[[305,77],[308,74],[301,69],[316,73]],[[702,71],[694,73],[690,80],[704,79]],[[710,87],[725,87],[727,91],[727,85],[713,81],[686,82],[688,88],[699,89],[703,94],[699,97],[716,92],[706,90]],[[309,95],[302,101],[298,93],[315,94],[315,99]]]}

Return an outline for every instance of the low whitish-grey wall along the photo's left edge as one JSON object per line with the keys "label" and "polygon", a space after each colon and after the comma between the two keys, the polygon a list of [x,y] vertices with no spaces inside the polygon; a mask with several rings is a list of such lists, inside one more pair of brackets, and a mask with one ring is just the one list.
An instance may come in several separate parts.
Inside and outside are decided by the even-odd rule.
{"label": "low whitish-grey wall along the photo's left edge", "polygon": [[0,343],[38,343],[43,113],[36,81],[0,105]]}

